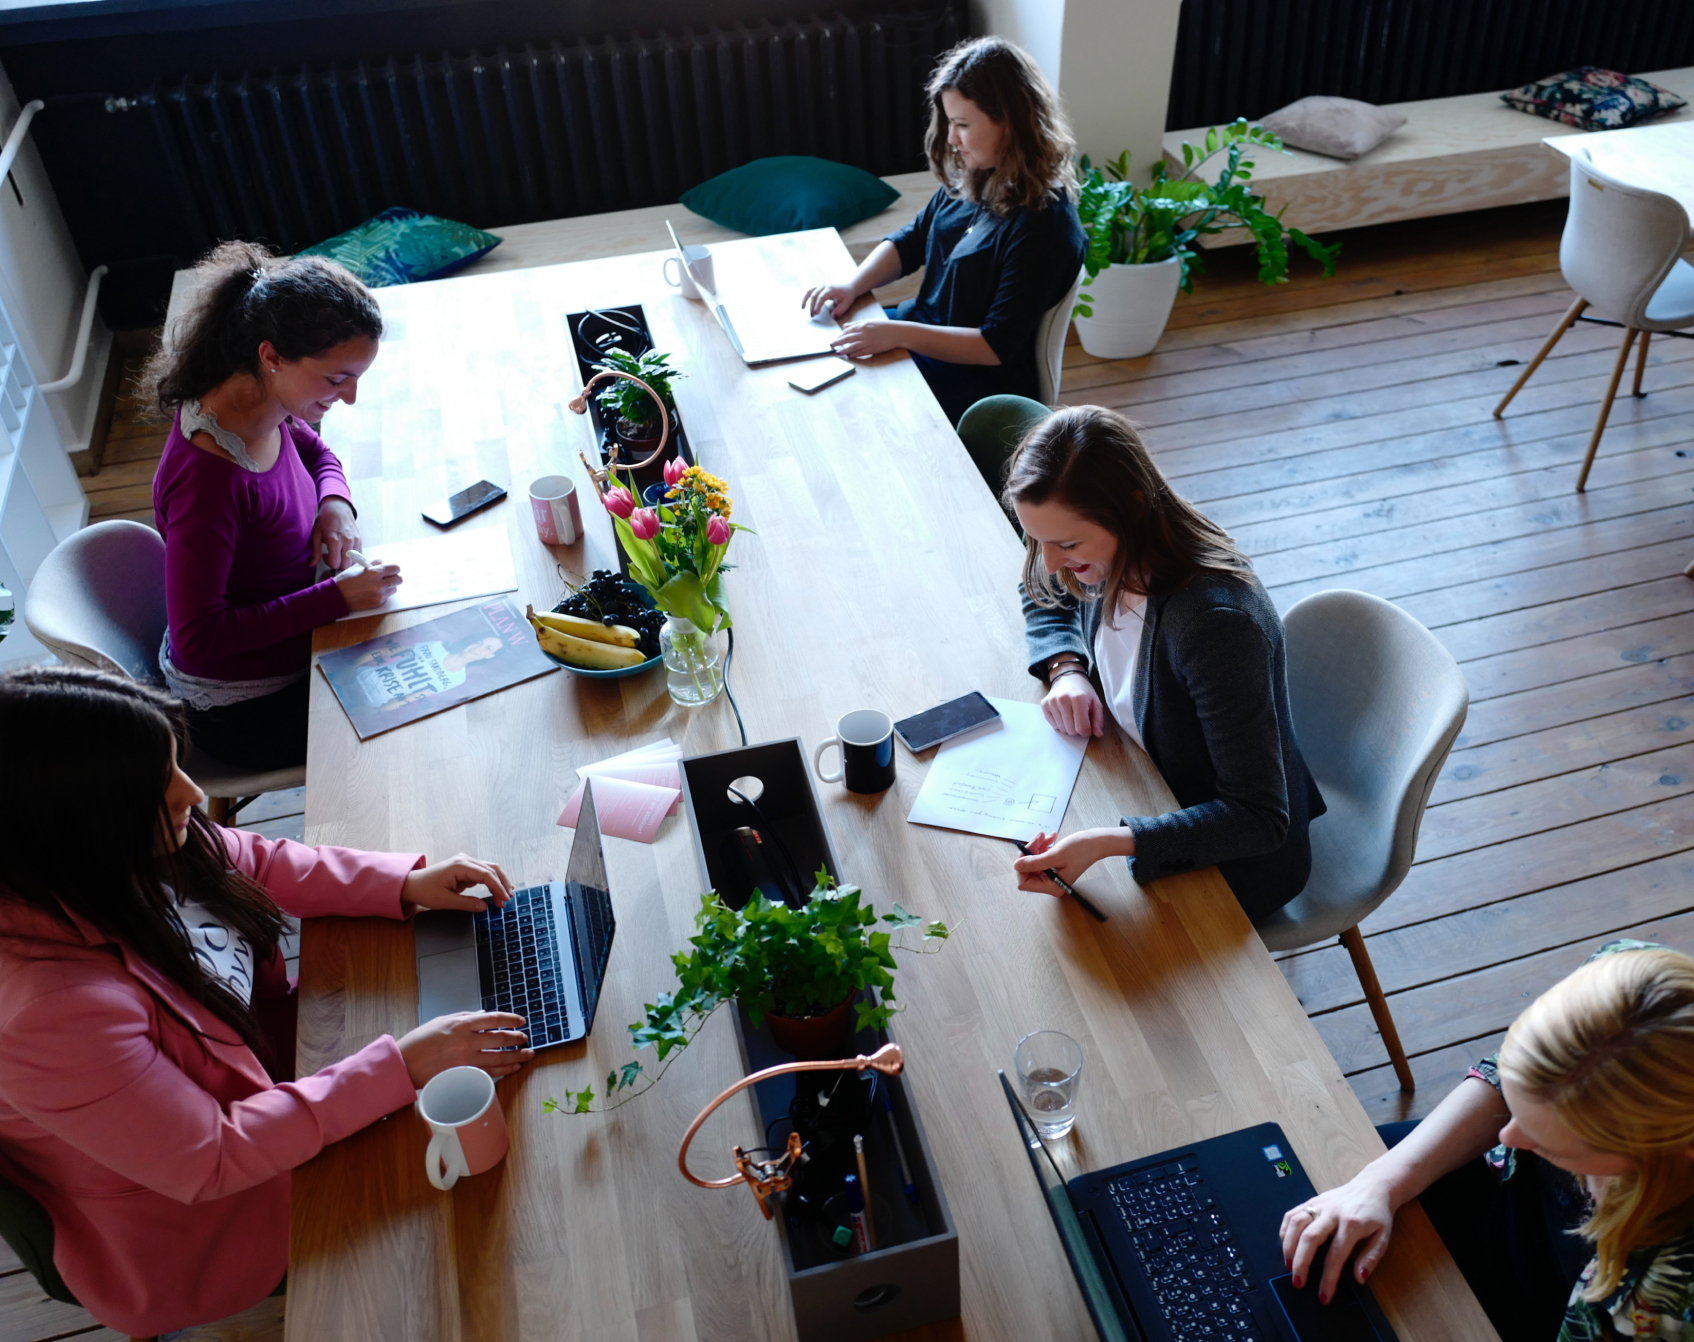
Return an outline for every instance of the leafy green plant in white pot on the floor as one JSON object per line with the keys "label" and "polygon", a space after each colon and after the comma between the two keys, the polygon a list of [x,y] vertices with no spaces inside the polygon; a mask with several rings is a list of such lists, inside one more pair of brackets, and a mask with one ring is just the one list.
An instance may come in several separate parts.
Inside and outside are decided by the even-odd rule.
{"label": "leafy green plant in white pot on the floor", "polygon": [[[1171,320],[1176,291],[1193,293],[1193,273],[1204,273],[1196,239],[1247,229],[1259,251],[1259,280],[1287,281],[1289,244],[1301,247],[1325,274],[1335,274],[1340,246],[1326,247],[1299,229],[1284,227],[1281,212],[1265,210],[1252,180],[1250,149],[1286,152],[1282,141],[1245,117],[1211,127],[1201,149],[1182,144],[1182,171],[1154,164],[1147,186],[1128,181],[1130,151],[1104,164],[1082,159],[1077,214],[1088,236],[1088,278],[1076,302],[1076,334],[1099,359],[1135,359],[1152,352]],[[1215,181],[1199,178],[1223,154]]]}

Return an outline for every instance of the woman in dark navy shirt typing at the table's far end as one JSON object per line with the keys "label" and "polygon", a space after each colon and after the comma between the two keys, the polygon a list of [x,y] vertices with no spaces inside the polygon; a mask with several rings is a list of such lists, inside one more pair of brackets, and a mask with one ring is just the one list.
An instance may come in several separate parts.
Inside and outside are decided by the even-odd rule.
{"label": "woman in dark navy shirt typing at the table's far end", "polygon": [[806,293],[813,315],[845,313],[923,266],[894,320],[842,329],[835,351],[908,349],[954,424],[983,396],[1040,398],[1035,327],[1082,266],[1071,132],[1047,81],[999,37],[954,47],[930,78],[927,149],[940,178],[923,212],[877,244],[845,285]]}

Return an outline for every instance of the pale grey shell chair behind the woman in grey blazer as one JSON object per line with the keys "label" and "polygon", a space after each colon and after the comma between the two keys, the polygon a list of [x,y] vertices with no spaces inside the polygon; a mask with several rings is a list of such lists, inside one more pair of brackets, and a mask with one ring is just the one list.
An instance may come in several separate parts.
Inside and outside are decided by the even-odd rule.
{"label": "pale grey shell chair behind the woman in grey blazer", "polygon": [[1359,923],[1411,868],[1435,778],[1470,695],[1452,654],[1411,615],[1364,591],[1320,591],[1282,618],[1294,735],[1328,812],[1311,822],[1311,879],[1257,932],[1270,951],[1340,937],[1394,1076],[1411,1064]]}

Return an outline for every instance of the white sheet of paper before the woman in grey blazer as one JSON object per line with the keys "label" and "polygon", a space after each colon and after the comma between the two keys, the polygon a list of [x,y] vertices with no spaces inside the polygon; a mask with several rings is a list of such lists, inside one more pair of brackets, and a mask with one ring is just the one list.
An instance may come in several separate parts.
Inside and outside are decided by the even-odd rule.
{"label": "white sheet of paper before the woman in grey blazer", "polygon": [[1071,805],[1088,742],[1049,727],[1038,703],[989,703],[999,710],[999,727],[942,746],[906,820],[994,839],[1052,834]]}

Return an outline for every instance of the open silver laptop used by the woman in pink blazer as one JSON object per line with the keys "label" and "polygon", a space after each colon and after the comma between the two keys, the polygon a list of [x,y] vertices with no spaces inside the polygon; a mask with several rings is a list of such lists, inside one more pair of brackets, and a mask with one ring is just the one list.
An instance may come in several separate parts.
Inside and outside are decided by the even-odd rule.
{"label": "open silver laptop used by the woman in pink blazer", "polygon": [[413,918],[418,1023],[452,1012],[515,1012],[532,1049],[583,1039],[595,1025],[612,956],[612,891],[595,788],[571,840],[564,881],[527,886],[505,908],[425,910]]}

